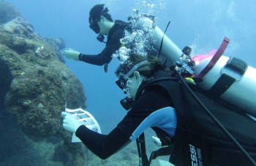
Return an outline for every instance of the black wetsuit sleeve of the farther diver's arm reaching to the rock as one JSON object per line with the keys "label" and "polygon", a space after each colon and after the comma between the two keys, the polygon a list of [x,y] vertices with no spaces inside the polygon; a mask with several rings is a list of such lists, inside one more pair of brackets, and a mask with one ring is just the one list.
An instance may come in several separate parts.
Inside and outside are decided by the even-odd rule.
{"label": "black wetsuit sleeve of the farther diver's arm reaching to the rock", "polygon": [[86,54],[80,54],[79,60],[90,63],[97,66],[102,66],[105,63],[110,63],[112,60],[112,55],[116,50],[118,50],[121,47],[120,39],[124,37],[124,29],[118,29],[116,30],[110,39],[108,39],[108,42],[106,44],[106,47],[102,52],[100,52],[97,55],[86,55]]}

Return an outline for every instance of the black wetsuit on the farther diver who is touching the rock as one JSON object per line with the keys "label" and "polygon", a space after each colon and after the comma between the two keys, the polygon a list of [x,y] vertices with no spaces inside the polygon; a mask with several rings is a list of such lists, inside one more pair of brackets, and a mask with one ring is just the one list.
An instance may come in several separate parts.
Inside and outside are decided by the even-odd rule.
{"label": "black wetsuit on the farther diver who is touching the rock", "polygon": [[97,55],[80,54],[79,60],[97,66],[102,66],[106,63],[110,63],[113,58],[113,53],[121,47],[120,39],[124,38],[125,29],[128,28],[129,23],[125,23],[121,20],[116,20],[115,24],[108,33],[108,40],[105,49]]}

